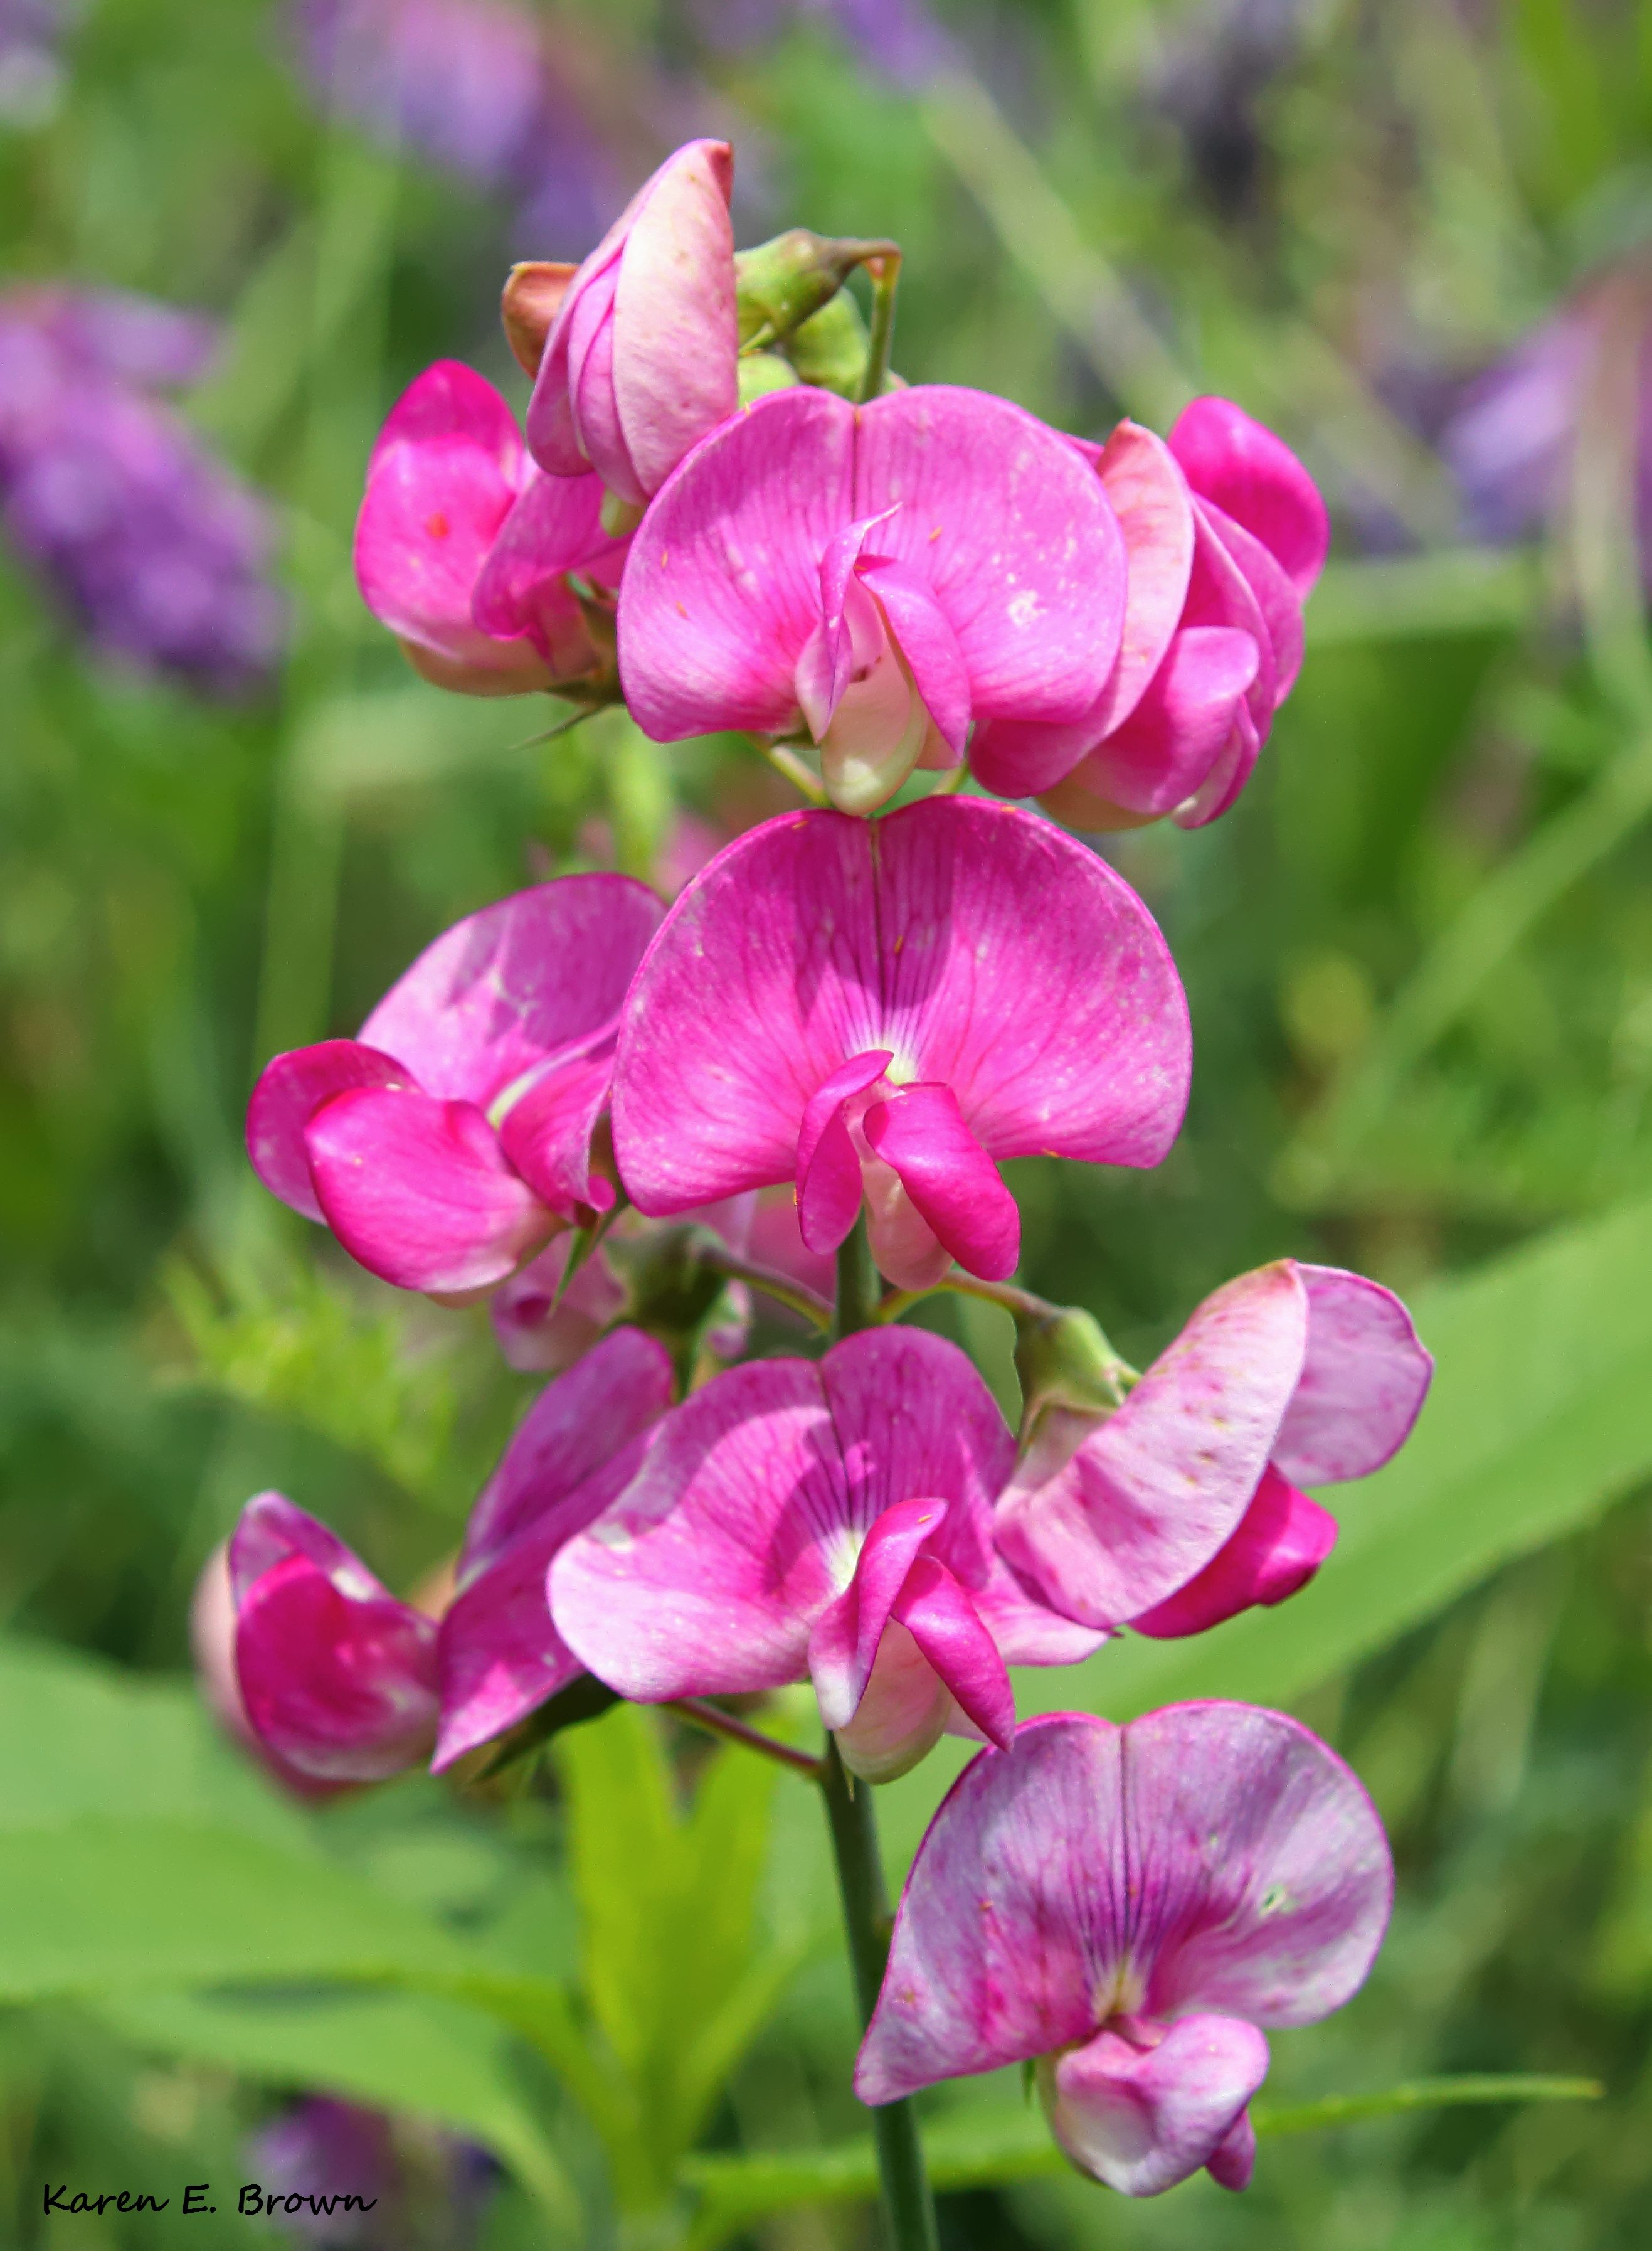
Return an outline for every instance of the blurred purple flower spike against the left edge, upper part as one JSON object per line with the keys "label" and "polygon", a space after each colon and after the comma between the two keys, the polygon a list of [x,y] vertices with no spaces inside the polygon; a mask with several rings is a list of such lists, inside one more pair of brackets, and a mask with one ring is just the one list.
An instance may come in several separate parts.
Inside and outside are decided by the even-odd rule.
{"label": "blurred purple flower spike against the left edge, upper part", "polygon": [[272,515],[151,396],[212,342],[142,297],[0,295],[0,524],[95,648],[234,696],[286,637]]}

